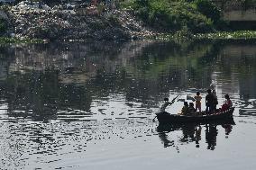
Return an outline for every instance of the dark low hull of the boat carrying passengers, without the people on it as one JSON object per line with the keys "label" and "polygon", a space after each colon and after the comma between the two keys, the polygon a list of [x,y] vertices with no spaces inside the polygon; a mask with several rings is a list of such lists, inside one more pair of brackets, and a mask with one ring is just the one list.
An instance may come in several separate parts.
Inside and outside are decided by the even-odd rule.
{"label": "dark low hull of the boat carrying passengers, without the people on it", "polygon": [[157,119],[160,123],[179,123],[179,122],[206,122],[206,121],[228,121],[233,120],[234,107],[224,111],[215,112],[213,114],[206,114],[202,112],[200,115],[178,115],[170,114],[169,112],[156,113]]}

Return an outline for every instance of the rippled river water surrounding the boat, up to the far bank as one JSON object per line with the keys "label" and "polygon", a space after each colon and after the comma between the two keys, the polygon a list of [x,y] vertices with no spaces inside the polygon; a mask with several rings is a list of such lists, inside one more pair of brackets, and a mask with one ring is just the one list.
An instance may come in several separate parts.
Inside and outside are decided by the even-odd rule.
{"label": "rippled river water surrounding the boat, up to the far bank", "polygon": [[[152,121],[210,85],[235,124]],[[252,170],[255,86],[253,40],[1,45],[0,169]]]}

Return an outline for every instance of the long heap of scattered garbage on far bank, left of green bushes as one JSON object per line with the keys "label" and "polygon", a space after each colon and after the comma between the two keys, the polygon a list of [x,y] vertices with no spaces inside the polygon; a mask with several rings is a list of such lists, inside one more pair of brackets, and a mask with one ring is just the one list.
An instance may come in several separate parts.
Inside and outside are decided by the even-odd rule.
{"label": "long heap of scattered garbage on far bank, left of green bushes", "polygon": [[61,4],[50,7],[23,1],[12,6],[8,16],[14,25],[13,34],[18,38],[118,40],[140,39],[154,34],[133,14],[118,10],[81,14],[75,8],[67,9]]}

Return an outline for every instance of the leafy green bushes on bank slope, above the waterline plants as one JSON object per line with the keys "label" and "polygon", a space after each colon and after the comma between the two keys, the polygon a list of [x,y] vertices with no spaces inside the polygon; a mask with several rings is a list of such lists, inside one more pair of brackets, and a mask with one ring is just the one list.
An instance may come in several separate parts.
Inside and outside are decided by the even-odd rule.
{"label": "leafy green bushes on bank slope, above the waterline plants", "polygon": [[209,32],[221,23],[220,10],[208,0],[131,0],[123,7],[161,31]]}

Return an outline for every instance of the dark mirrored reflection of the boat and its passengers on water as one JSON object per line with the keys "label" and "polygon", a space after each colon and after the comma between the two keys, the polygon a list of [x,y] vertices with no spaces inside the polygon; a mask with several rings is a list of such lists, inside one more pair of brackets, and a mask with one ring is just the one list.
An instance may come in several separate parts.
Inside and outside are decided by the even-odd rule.
{"label": "dark mirrored reflection of the boat and its passengers on water", "polygon": [[[157,131],[164,148],[174,147],[179,152],[179,145],[189,143],[195,143],[196,148],[200,148],[200,143],[202,144],[201,140],[205,138],[206,148],[214,150],[217,142],[216,138],[218,135],[218,129],[223,128],[225,138],[228,138],[229,134],[233,129],[233,125],[235,125],[233,119],[228,121],[216,121],[206,124],[160,123],[157,127]],[[203,134],[204,130],[206,132],[205,135]],[[170,139],[170,136],[172,136],[172,134],[175,135],[176,139]]]}

